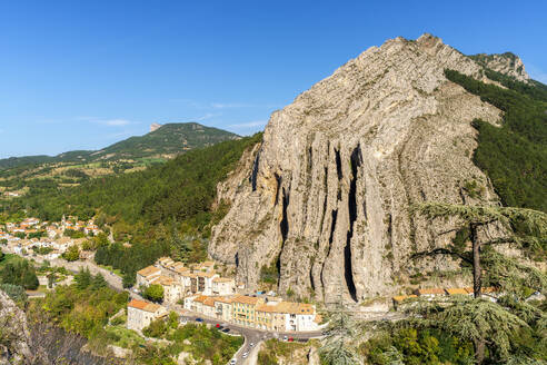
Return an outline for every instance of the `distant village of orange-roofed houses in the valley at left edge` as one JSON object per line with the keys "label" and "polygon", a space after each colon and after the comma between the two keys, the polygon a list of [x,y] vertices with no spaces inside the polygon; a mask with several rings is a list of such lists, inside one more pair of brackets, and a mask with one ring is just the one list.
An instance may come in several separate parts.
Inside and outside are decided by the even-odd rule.
{"label": "distant village of orange-roofed houses in the valley at left edge", "polygon": [[[32,248],[50,248],[44,255],[46,259],[54,259],[61,256],[70,246],[79,245],[84,238],[73,239],[64,237],[67,229],[80,230],[86,235],[97,235],[100,233],[99,227],[93,220],[81,221],[77,217],[64,217],[60,223],[40,221],[38,218],[26,218],[20,223],[7,223],[4,230],[0,229],[0,240],[8,241],[8,248],[17,254],[24,256],[30,254]],[[20,234],[29,237],[38,231],[43,231],[42,237],[21,238]]]}

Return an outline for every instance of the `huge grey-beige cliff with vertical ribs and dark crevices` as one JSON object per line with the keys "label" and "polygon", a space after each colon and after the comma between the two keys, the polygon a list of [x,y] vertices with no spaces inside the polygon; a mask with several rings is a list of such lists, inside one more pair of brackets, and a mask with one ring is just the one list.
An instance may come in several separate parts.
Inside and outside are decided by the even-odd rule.
{"label": "huge grey-beige cliff with vertical ribs and dark crevices", "polygon": [[218,187],[231,208],[213,227],[210,256],[235,265],[250,288],[262,266],[276,265],[280,294],[327,304],[397,293],[412,273],[452,267],[410,262],[435,239],[448,243],[437,234],[454,226],[428,225],[408,208],[473,204],[470,180],[480,199],[497,200],[471,161],[470,121],[496,124],[500,111],[448,81],[447,68],[483,77],[439,38],[388,40],[274,112],[262,145]]}

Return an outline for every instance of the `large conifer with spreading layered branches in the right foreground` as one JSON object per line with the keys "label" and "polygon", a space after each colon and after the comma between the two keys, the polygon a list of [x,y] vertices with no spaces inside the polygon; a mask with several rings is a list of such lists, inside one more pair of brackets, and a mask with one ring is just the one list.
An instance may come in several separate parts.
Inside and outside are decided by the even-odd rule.
{"label": "large conifer with spreading layered branches in the right foreground", "polygon": [[[476,363],[485,358],[488,346],[491,357],[499,361],[510,358],[510,336],[521,328],[529,328],[543,313],[536,316],[523,316],[524,307],[515,300],[524,298],[524,288],[545,293],[547,277],[534,267],[506,257],[495,249],[498,245],[511,244],[516,247],[534,250],[545,256],[547,243],[547,215],[531,209],[513,207],[484,207],[425,203],[415,205],[417,211],[429,220],[457,218],[460,226],[450,231],[468,229],[471,250],[454,247],[437,247],[414,255],[415,258],[432,255],[450,255],[473,266],[474,299],[457,298],[442,302],[421,303],[409,312],[419,313],[414,318],[415,326],[438,327],[459,338],[471,341],[475,345]],[[493,237],[490,227],[497,227],[503,235]],[[446,234],[446,233],[444,233]],[[485,283],[494,285],[506,296],[498,303],[481,298]],[[513,304],[511,304],[513,300]],[[520,307],[520,308],[519,308]],[[530,312],[530,308],[527,307]],[[528,320],[527,320],[528,319]]]}

